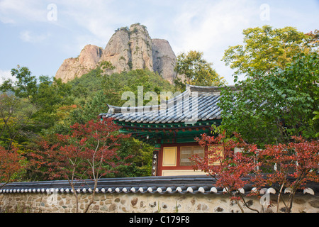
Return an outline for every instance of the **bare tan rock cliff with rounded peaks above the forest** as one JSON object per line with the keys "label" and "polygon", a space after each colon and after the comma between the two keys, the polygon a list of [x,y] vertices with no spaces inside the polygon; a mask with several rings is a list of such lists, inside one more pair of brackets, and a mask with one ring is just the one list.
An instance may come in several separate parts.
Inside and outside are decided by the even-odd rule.
{"label": "bare tan rock cliff with rounded peaks above the forest", "polygon": [[130,28],[119,28],[104,50],[86,45],[79,57],[68,58],[63,62],[55,77],[67,82],[81,77],[104,61],[111,62],[114,67],[108,73],[148,69],[158,72],[170,83],[177,77],[174,72],[176,56],[169,42],[151,39],[146,27],[139,23]]}

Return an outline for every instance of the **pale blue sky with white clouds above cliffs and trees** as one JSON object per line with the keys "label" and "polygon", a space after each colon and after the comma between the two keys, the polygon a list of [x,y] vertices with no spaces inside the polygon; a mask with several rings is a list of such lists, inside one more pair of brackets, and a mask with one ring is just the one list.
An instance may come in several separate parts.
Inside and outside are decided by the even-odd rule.
{"label": "pale blue sky with white clouds above cliffs and trees", "polygon": [[151,38],[169,41],[175,55],[203,52],[233,84],[221,61],[240,45],[246,28],[319,29],[319,0],[0,0],[0,84],[17,65],[54,77],[62,62],[85,45],[105,48],[117,28],[141,23]]}

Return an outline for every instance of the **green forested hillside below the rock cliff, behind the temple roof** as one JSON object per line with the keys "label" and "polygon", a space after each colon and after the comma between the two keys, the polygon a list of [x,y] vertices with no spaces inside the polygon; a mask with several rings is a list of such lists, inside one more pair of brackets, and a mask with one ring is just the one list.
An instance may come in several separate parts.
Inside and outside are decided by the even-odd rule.
{"label": "green forested hillside below the rock cliff, behind the temple roof", "polygon": [[[99,114],[108,111],[107,104],[121,106],[123,92],[136,93],[138,86],[143,92],[172,91],[175,88],[159,74],[149,70],[107,75],[101,67],[91,70],[80,78],[62,83],[60,79],[32,75],[28,67],[18,66],[12,70],[18,82],[9,81],[1,89],[1,134],[0,145],[11,150],[18,148],[23,155],[38,150],[40,140],[56,143],[56,134],[69,134],[74,123],[84,124],[97,119]],[[5,92],[5,91],[13,92]],[[147,101],[147,100],[146,100]],[[150,175],[152,146],[134,138],[121,143],[119,154],[123,159],[134,155],[130,166],[118,167],[121,171],[111,175],[134,177]],[[23,180],[47,179],[44,170],[24,170]]]}

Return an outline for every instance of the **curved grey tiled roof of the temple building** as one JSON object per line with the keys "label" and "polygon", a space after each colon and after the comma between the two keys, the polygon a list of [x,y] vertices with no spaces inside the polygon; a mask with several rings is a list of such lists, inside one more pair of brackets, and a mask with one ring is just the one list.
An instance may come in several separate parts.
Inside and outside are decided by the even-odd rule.
{"label": "curved grey tiled roof of the temple building", "polygon": [[[235,87],[230,87],[235,89]],[[132,123],[178,123],[220,119],[218,101],[220,87],[201,87],[186,84],[186,91],[161,105],[121,107],[110,106],[101,118]]]}

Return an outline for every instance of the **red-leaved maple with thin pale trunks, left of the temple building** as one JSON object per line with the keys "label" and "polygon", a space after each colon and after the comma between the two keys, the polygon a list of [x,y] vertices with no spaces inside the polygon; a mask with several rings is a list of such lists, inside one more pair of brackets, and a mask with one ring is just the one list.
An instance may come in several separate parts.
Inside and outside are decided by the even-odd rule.
{"label": "red-leaved maple with thin pale trunks, left of the temple building", "polygon": [[[50,145],[42,141],[43,150],[34,155],[38,167],[46,165],[51,179],[67,179],[76,199],[76,211],[79,211],[77,189],[87,184],[94,184],[91,200],[84,209],[88,211],[94,202],[98,181],[111,172],[116,172],[120,162],[117,155],[121,140],[130,137],[119,133],[121,126],[113,123],[112,118],[103,121],[89,121],[85,124],[75,123],[71,135],[57,135],[58,143]],[[82,182],[82,184],[79,184]],[[87,184],[89,186],[89,184]]]}

